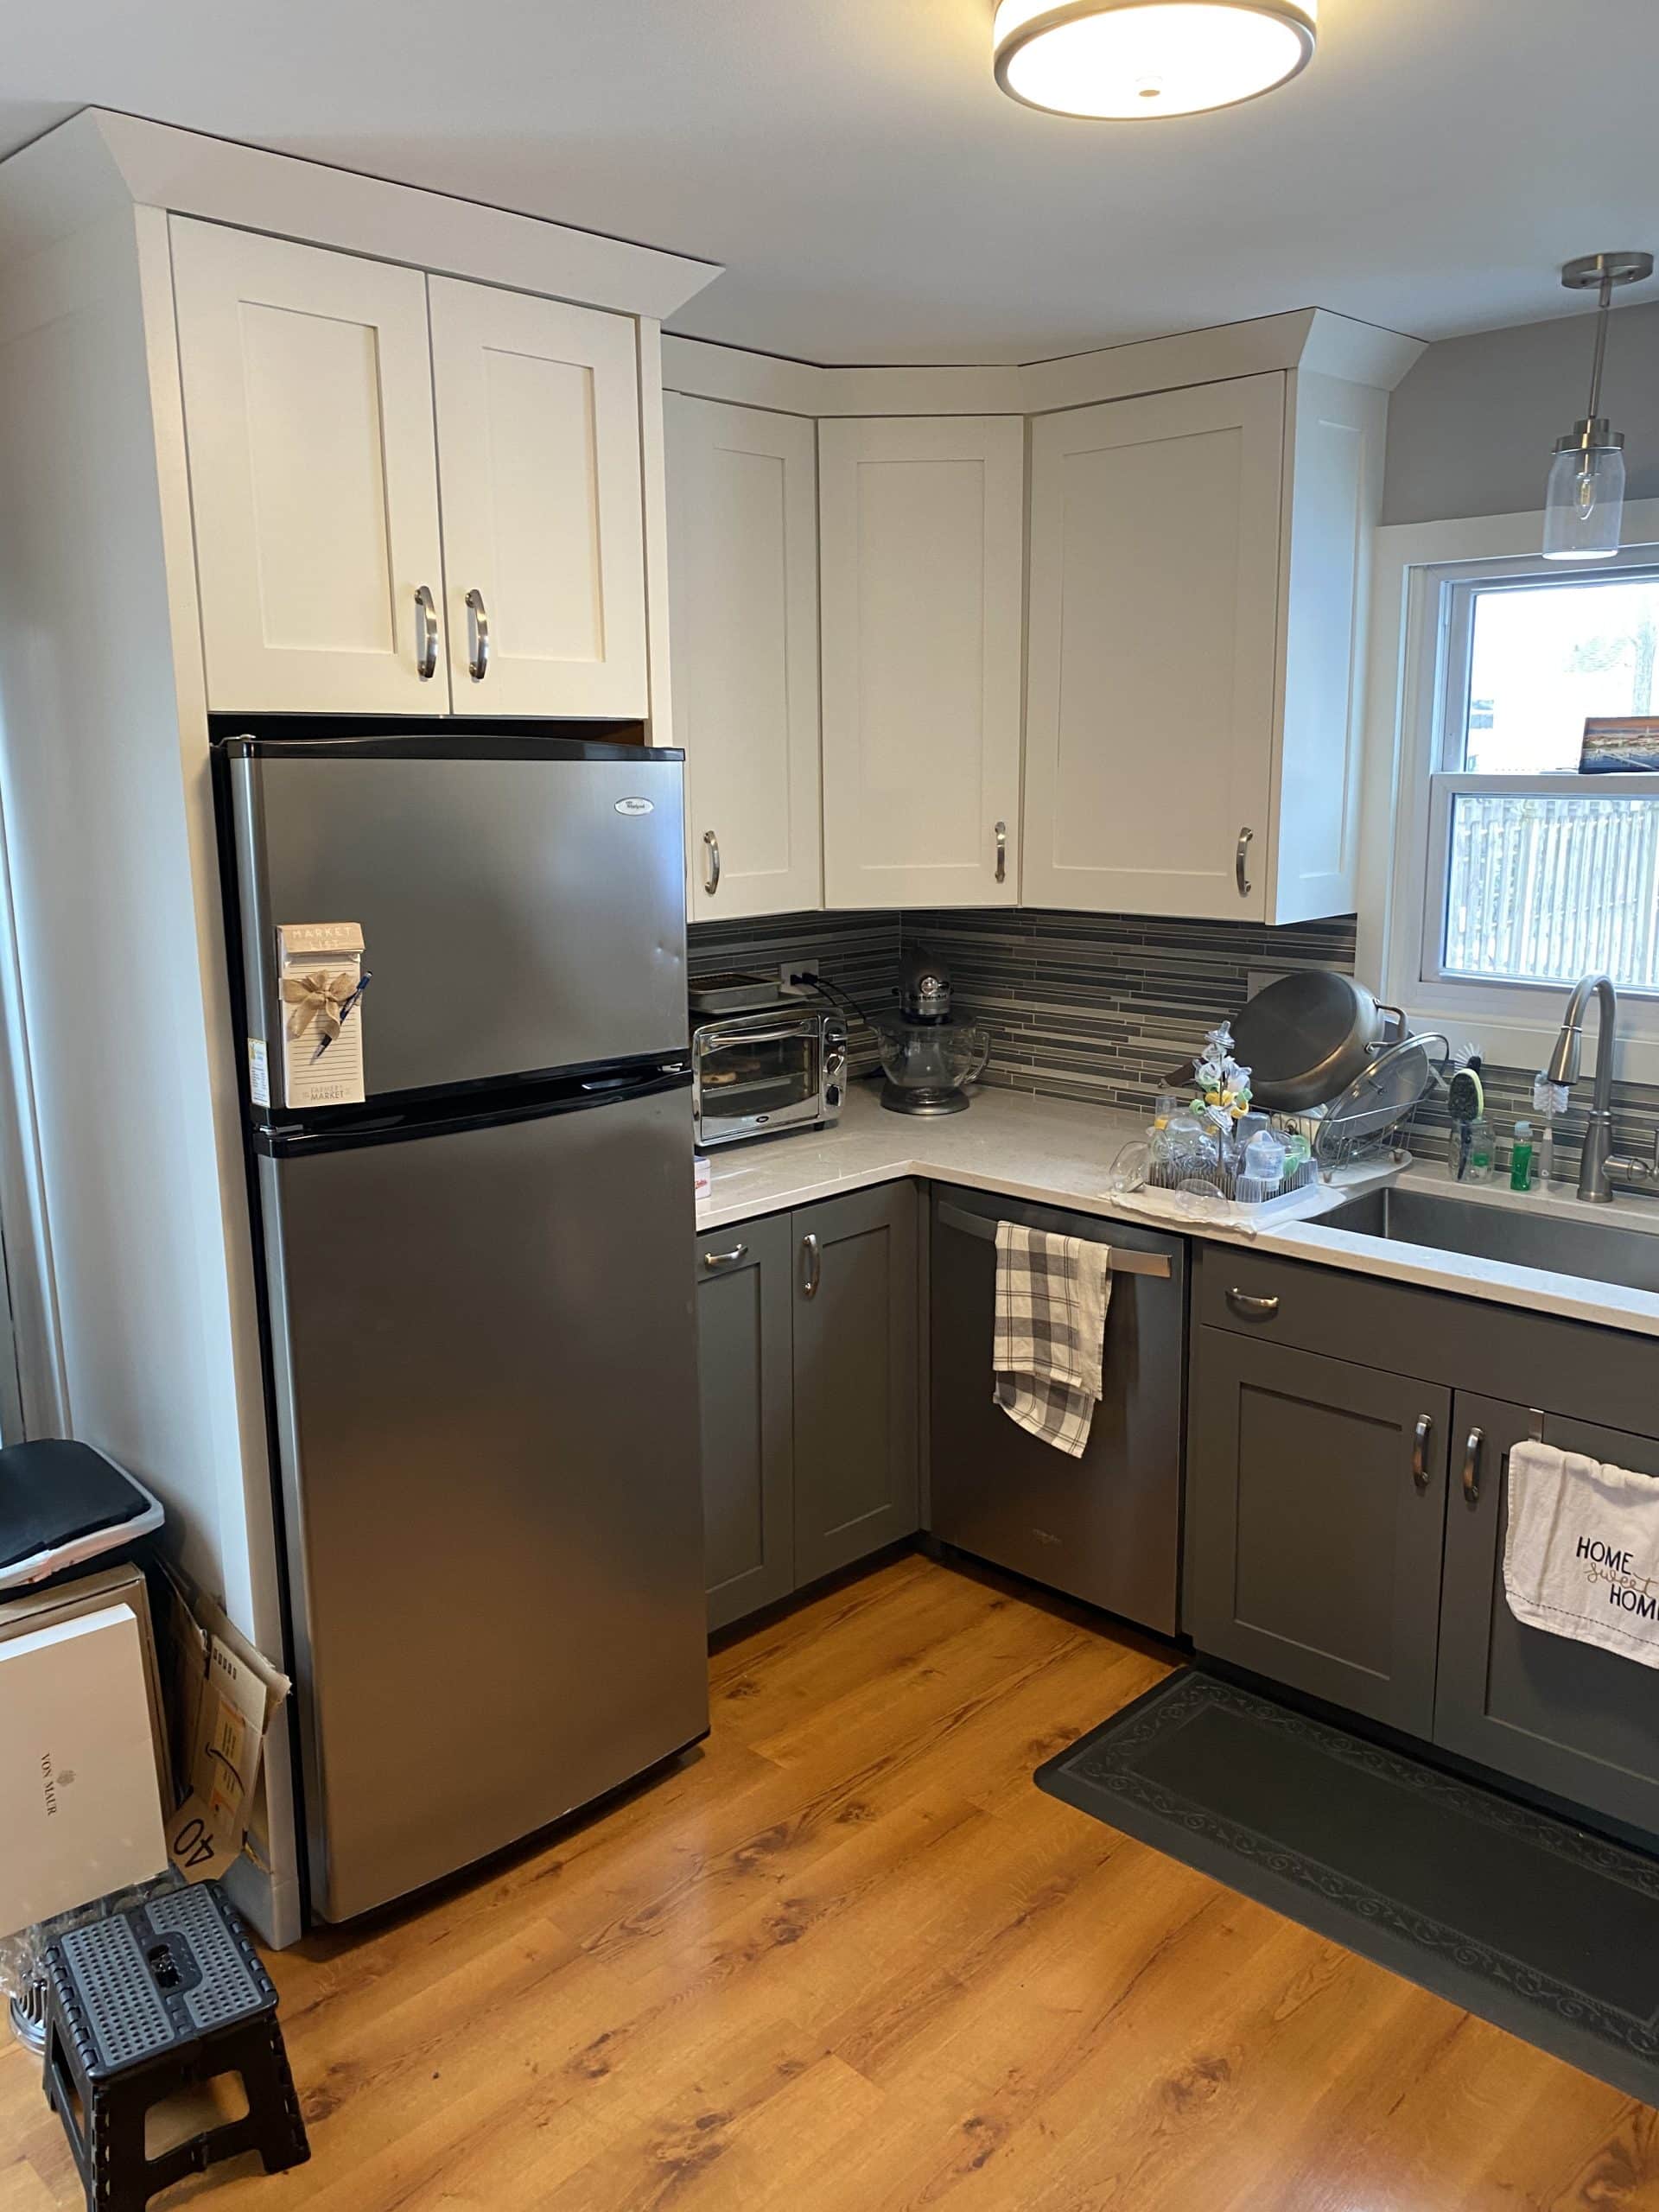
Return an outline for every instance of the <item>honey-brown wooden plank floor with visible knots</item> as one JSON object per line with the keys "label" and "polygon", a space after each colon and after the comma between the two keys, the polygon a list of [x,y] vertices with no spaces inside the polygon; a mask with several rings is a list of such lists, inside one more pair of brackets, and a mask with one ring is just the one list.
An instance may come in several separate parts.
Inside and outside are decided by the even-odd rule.
{"label": "honey-brown wooden plank floor with visible knots", "polygon": [[[223,2212],[1659,2208],[1659,2117],[1031,1787],[1164,1659],[920,1557],[712,1661],[557,1843],[274,1960],[312,2163]],[[0,2057],[0,2212],[77,2205]]]}

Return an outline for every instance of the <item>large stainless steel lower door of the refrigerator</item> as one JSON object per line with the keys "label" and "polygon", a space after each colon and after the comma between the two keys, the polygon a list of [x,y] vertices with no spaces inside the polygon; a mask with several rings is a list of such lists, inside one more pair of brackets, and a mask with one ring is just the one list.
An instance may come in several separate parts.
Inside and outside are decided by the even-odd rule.
{"label": "large stainless steel lower door of the refrigerator", "polygon": [[684,1091],[261,1159],[312,1905],[708,1728]]}

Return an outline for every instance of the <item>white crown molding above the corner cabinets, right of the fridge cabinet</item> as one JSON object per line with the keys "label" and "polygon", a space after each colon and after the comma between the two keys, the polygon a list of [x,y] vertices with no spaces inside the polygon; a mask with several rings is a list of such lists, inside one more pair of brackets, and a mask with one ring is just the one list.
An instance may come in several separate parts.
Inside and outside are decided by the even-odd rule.
{"label": "white crown molding above the corner cabinets, right of the fridge cabinet", "polygon": [[1170,338],[1137,338],[1097,354],[1029,361],[1020,367],[823,367],[750,354],[708,338],[664,332],[664,383],[690,398],[816,416],[1060,414],[1099,400],[1179,392],[1190,385],[1318,369],[1354,385],[1394,392],[1422,354],[1422,338],[1378,330],[1327,307],[1217,323]]}

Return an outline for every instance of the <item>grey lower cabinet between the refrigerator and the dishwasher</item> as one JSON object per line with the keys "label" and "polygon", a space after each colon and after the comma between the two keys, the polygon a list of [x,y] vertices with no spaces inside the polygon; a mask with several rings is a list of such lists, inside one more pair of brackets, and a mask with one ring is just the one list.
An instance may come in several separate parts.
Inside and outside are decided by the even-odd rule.
{"label": "grey lower cabinet between the refrigerator and the dishwasher", "polygon": [[708,1626],[920,1526],[918,1199],[697,1237]]}

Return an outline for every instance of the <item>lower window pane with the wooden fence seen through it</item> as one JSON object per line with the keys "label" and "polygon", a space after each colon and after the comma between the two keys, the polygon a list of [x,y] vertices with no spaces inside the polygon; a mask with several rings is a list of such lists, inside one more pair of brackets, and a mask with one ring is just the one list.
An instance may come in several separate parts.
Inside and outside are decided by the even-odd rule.
{"label": "lower window pane with the wooden fence seen through it", "polygon": [[1659,991],[1659,794],[1455,792],[1444,969]]}

